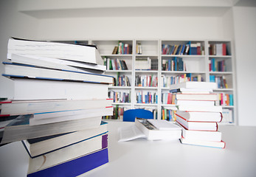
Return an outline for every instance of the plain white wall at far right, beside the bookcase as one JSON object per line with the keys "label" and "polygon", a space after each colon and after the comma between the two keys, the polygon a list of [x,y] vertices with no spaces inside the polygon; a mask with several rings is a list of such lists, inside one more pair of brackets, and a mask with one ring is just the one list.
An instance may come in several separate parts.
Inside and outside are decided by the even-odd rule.
{"label": "plain white wall at far right, beside the bookcase", "polygon": [[234,7],[239,125],[256,125],[256,8]]}

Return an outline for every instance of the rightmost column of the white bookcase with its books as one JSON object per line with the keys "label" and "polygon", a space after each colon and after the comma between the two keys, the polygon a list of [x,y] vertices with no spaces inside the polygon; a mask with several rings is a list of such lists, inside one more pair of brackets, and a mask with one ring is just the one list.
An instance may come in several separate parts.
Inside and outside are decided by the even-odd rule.
{"label": "rightmost column of the white bookcase with its books", "polygon": [[209,81],[215,82],[218,101],[223,108],[223,124],[236,124],[235,66],[230,41],[208,41]]}

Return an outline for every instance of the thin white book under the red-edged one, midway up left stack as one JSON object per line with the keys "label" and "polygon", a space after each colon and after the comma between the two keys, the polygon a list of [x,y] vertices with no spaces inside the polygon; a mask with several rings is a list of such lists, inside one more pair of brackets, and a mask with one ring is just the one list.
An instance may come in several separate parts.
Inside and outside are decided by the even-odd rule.
{"label": "thin white book under the red-edged one, midway up left stack", "polygon": [[[114,111],[113,107],[87,109],[82,111],[72,111],[72,112],[80,112],[80,114],[75,113],[71,115],[63,115],[63,116],[52,117],[47,119],[36,119],[34,114],[34,117],[30,119],[30,125],[42,125],[42,124],[63,122],[63,121],[69,121],[69,120],[75,120],[75,119],[85,119],[89,117],[113,116],[113,111]],[[60,111],[58,112],[60,113]],[[67,112],[67,111],[64,111],[64,112]],[[44,114],[44,113],[41,113],[41,114]]]}

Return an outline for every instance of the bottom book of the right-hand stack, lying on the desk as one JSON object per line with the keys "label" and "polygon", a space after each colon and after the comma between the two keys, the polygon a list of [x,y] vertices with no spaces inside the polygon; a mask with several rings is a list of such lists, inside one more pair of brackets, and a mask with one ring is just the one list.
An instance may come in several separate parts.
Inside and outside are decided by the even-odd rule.
{"label": "bottom book of the right-hand stack, lying on the desk", "polygon": [[205,147],[216,147],[216,148],[225,148],[226,143],[224,141],[221,142],[215,142],[215,141],[201,141],[196,139],[185,139],[184,137],[181,137],[181,143],[187,144],[187,145],[199,145],[199,146],[205,146]]}

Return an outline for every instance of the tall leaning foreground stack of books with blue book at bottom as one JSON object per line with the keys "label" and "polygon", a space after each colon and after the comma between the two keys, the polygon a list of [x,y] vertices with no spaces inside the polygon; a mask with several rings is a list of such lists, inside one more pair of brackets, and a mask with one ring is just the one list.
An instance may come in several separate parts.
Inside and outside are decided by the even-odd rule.
{"label": "tall leaning foreground stack of books with blue book at bottom", "polygon": [[7,58],[14,96],[1,100],[0,141],[22,141],[27,176],[78,176],[107,163],[102,117],[113,115],[113,77],[102,74],[97,48],[10,38]]}

